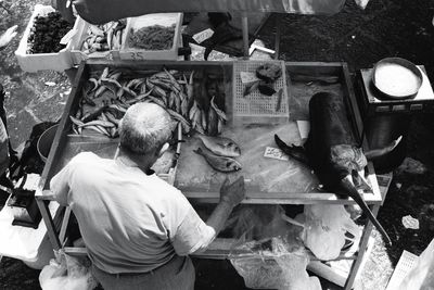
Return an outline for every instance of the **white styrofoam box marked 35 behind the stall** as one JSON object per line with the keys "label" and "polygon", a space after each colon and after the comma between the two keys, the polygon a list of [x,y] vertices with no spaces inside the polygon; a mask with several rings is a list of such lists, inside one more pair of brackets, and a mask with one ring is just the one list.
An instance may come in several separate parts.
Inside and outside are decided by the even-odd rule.
{"label": "white styrofoam box marked 35 behind the stall", "polygon": [[[124,34],[123,45],[119,51],[122,60],[177,60],[178,47],[181,38],[182,13],[153,13],[138,17],[130,17],[127,22],[126,33]],[[131,31],[142,27],[162,25],[169,27],[175,24],[174,45],[168,50],[142,50],[130,48],[128,38]]]}

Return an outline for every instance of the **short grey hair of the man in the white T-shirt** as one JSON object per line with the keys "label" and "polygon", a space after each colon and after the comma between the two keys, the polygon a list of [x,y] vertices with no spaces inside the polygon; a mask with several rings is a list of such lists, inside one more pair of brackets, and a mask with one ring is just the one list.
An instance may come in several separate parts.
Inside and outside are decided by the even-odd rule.
{"label": "short grey hair of the man in the white T-shirt", "polygon": [[119,124],[120,148],[133,154],[159,150],[170,135],[170,115],[154,103],[131,105]]}

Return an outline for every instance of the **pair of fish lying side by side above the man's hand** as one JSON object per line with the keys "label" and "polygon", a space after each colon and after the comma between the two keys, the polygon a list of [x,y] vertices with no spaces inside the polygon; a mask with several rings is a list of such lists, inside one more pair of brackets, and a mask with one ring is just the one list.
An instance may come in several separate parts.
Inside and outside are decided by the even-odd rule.
{"label": "pair of fish lying side by side above the man's hand", "polygon": [[233,159],[241,155],[241,149],[232,139],[205,135],[197,135],[197,137],[206,149],[197,148],[193,152],[204,156],[214,169],[222,173],[242,169],[241,164]]}

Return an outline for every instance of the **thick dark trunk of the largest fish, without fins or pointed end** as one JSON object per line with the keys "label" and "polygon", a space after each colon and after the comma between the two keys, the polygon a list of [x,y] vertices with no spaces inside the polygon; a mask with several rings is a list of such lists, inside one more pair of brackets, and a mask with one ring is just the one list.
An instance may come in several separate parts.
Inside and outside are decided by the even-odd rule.
{"label": "thick dark trunk of the largest fish, without fins or pointed end", "polygon": [[368,164],[355,140],[341,96],[316,93],[309,102],[310,131],[305,143],[309,164],[326,188],[334,189]]}

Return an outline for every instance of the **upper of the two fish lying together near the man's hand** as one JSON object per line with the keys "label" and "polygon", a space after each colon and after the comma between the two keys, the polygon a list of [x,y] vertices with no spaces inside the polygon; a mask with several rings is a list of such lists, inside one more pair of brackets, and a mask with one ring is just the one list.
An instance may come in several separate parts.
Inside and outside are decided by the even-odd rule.
{"label": "upper of the two fish lying together near the man's hand", "polygon": [[230,138],[212,137],[197,135],[202,143],[214,154],[227,157],[238,157],[241,155],[240,147]]}

